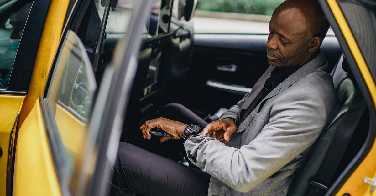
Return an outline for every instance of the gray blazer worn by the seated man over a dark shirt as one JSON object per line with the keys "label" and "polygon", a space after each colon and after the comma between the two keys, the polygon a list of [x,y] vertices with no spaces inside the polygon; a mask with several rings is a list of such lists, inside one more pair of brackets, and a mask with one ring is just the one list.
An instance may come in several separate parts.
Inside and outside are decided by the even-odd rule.
{"label": "gray blazer worn by the seated man over a dark shirt", "polygon": [[[238,131],[223,144],[190,137],[191,161],[212,177],[208,195],[286,195],[294,172],[338,108],[327,60],[320,53],[273,89],[240,121],[274,69],[270,66],[252,92],[221,116],[235,119]],[[188,151],[189,150],[189,151]]]}

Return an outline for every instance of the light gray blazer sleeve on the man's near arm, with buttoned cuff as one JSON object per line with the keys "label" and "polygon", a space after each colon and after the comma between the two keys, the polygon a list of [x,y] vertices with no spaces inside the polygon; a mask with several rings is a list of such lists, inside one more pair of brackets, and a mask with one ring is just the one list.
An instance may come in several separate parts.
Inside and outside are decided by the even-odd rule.
{"label": "light gray blazer sleeve on the man's near arm, with buttoned cuff", "polygon": [[323,100],[309,90],[301,92],[276,100],[268,123],[249,144],[237,149],[209,135],[190,137],[184,143],[188,157],[233,189],[250,191],[311,146],[324,128]]}

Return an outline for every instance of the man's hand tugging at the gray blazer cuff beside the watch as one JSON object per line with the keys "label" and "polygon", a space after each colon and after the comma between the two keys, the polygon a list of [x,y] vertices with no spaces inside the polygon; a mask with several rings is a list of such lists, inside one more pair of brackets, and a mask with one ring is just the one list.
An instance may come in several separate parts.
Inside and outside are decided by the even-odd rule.
{"label": "man's hand tugging at the gray blazer cuff beside the watch", "polygon": [[225,118],[218,121],[212,121],[199,135],[209,134],[220,142],[230,142],[230,138],[237,132],[238,128],[235,121],[231,118]]}

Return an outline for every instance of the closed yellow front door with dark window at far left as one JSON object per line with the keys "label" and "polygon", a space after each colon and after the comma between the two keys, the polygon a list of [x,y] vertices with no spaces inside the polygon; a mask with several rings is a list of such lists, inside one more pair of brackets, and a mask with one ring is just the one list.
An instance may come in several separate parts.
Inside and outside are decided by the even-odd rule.
{"label": "closed yellow front door with dark window at far left", "polygon": [[[47,16],[51,20],[50,2],[6,0],[0,3],[0,195],[11,194],[17,125],[23,121],[23,114],[30,111],[26,111],[24,103],[33,99],[32,91],[37,89],[35,84],[43,83],[47,77],[46,74],[44,79],[43,75],[33,76],[33,71],[36,71],[34,63],[44,59],[39,67],[47,72],[49,66],[45,62],[52,61],[54,53],[51,56],[50,49],[57,47],[60,37],[48,31],[51,21],[45,23]],[[62,23],[64,17],[60,21],[55,20],[54,34],[61,33]],[[46,26],[47,29],[44,29]],[[43,44],[46,38],[50,41],[48,45]]]}

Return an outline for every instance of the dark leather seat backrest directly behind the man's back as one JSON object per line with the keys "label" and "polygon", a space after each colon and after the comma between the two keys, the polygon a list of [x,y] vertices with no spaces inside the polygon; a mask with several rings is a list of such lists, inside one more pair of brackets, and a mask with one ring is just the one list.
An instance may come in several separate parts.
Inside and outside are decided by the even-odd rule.
{"label": "dark leather seat backrest directly behind the man's back", "polygon": [[[343,68],[347,72],[344,71]],[[309,190],[308,183],[316,176],[320,169],[333,136],[341,125],[353,96],[355,95],[355,86],[351,77],[352,73],[350,72],[350,69],[348,69],[347,61],[343,56],[338,60],[338,63],[331,74],[340,100],[340,108],[332,122],[323,131],[314,146],[312,146],[312,150],[302,166],[297,170],[297,173],[290,184],[288,191],[289,196],[302,196]]]}

